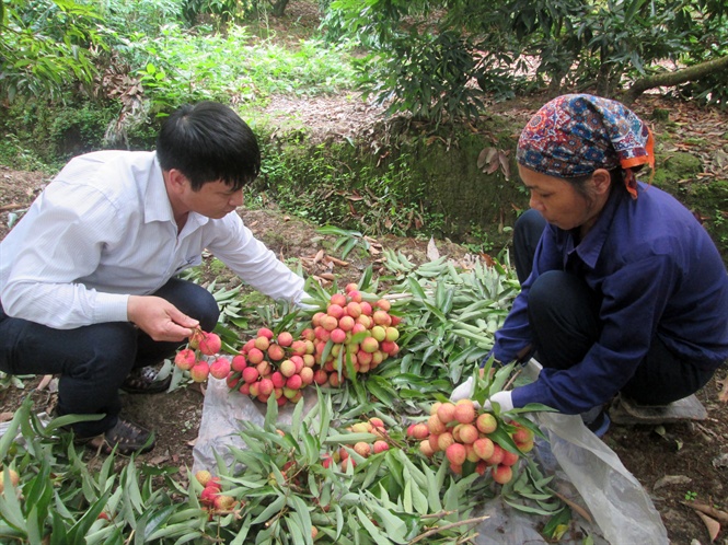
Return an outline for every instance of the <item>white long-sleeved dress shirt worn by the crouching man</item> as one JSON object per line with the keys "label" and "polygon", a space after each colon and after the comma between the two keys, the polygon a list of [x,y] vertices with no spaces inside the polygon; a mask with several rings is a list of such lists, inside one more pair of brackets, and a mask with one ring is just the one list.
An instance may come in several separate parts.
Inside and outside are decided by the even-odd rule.
{"label": "white long-sleeved dress shirt worn by the crouching man", "polygon": [[129,295],[199,265],[204,248],[266,295],[303,295],[303,279],[234,211],[189,212],[177,233],[155,152],[80,155],[0,243],[0,301],[9,316],[59,329],[126,322]]}

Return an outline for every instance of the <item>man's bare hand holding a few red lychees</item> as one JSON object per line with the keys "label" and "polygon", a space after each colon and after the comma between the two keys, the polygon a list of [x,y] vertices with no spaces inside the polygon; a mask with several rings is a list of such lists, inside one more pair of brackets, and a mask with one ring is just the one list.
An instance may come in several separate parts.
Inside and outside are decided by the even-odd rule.
{"label": "man's bare hand holding a few red lychees", "polygon": [[166,299],[155,295],[130,295],[126,312],[129,322],[153,340],[184,340],[199,325]]}

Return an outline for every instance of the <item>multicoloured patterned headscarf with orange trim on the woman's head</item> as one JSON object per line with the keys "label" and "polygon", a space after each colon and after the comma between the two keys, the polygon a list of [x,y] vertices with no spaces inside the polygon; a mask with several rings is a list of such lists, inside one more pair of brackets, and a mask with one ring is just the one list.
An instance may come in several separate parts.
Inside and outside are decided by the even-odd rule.
{"label": "multicoloured patterned headscarf with orange trim on the woman's head", "polygon": [[624,169],[624,184],[637,198],[633,167],[655,171],[655,139],[624,104],[590,94],[566,94],[545,104],[518,140],[519,164],[562,178],[597,169]]}

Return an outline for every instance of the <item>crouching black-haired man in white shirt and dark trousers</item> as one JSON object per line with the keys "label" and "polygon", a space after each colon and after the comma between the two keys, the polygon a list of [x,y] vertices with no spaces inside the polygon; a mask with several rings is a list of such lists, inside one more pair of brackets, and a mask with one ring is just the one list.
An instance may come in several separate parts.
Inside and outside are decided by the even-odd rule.
{"label": "crouching black-haired man in white shirt and dark trousers", "polygon": [[59,415],[104,415],[73,426],[81,441],[150,450],[153,433],[119,417],[118,390],[166,390],[148,366],[219,316],[176,275],[207,248],[274,299],[304,294],[235,212],[259,167],[250,127],[213,102],[174,112],[154,152],[71,160],[0,243],[0,370],[59,374]]}

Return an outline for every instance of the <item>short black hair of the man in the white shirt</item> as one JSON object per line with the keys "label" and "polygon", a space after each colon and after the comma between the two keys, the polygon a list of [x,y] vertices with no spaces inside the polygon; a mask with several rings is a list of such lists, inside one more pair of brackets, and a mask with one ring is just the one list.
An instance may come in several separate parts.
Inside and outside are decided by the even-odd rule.
{"label": "short black hair of the man in the white shirt", "polygon": [[218,102],[173,112],[157,138],[157,156],[162,170],[182,172],[193,190],[218,179],[238,190],[261,172],[255,135],[232,108]]}

